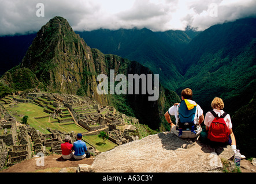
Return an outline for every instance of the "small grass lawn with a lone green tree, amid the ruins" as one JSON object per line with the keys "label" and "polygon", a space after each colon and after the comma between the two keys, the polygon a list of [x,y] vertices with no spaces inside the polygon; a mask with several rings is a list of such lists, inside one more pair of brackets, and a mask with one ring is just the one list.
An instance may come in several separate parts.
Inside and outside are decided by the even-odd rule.
{"label": "small grass lawn with a lone green tree, amid the ruins", "polygon": [[88,141],[89,144],[95,146],[96,149],[101,152],[111,150],[117,146],[117,144],[114,144],[110,140],[105,140],[106,144],[103,144],[103,139],[99,138],[98,135],[84,136],[83,139],[84,141]]}

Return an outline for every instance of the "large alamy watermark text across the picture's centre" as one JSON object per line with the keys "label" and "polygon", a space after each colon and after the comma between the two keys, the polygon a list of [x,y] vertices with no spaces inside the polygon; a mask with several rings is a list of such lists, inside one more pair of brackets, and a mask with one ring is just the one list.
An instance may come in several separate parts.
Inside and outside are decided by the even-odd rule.
{"label": "large alamy watermark text across the picture's centre", "polygon": [[[154,80],[152,74],[128,74],[127,80],[124,74],[114,76],[114,70],[110,70],[109,78],[105,74],[99,74],[97,81],[100,82],[97,86],[98,94],[149,94],[149,101],[156,101],[159,98],[158,74],[154,74]],[[115,85],[115,82],[118,83]]]}

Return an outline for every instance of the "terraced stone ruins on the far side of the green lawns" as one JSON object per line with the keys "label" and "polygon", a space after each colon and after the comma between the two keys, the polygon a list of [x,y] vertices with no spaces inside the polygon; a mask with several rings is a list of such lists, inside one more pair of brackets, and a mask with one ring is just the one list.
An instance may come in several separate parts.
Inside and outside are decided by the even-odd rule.
{"label": "terraced stone ruins on the far side of the green lawns", "polygon": [[[55,106],[56,108],[67,108],[69,112],[71,112],[71,114],[73,115],[73,121],[75,121],[77,125],[80,125],[88,131],[88,133],[85,133],[85,135],[92,135],[95,133],[99,133],[100,131],[105,131],[109,135],[109,140],[113,141],[113,143],[116,143],[118,145],[138,139],[138,137],[133,136],[135,132],[129,130],[120,130],[122,129],[121,127],[125,126],[125,122],[138,124],[139,120],[134,117],[128,117],[123,113],[117,112],[117,110],[114,109],[113,106],[100,106],[95,101],[92,101],[92,99],[90,98],[77,97],[76,95],[71,94],[39,94],[39,96],[54,101],[53,106]],[[60,114],[51,114],[54,114],[54,116],[51,115],[52,117],[65,116],[61,115],[61,112]],[[65,121],[70,120],[59,120],[60,123]]]}

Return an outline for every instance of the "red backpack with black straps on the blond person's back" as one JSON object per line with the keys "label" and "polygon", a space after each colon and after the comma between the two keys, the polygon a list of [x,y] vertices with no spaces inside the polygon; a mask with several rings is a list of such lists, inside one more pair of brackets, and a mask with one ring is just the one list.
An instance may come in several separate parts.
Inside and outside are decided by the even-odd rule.
{"label": "red backpack with black straps on the blond person's back", "polygon": [[207,138],[211,141],[226,143],[228,141],[229,129],[224,120],[224,117],[228,113],[224,112],[220,117],[212,110],[210,113],[213,114],[214,120],[210,124]]}

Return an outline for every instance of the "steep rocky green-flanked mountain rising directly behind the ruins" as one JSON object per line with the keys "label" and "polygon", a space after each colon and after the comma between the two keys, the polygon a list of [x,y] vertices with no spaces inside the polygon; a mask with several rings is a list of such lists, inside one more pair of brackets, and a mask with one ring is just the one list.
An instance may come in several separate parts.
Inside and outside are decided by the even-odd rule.
{"label": "steep rocky green-flanked mountain rising directly behind the ruins", "polygon": [[157,101],[149,101],[149,94],[98,94],[97,76],[110,76],[110,70],[114,70],[115,76],[124,74],[127,78],[128,74],[153,74],[135,61],[91,49],[73,32],[67,20],[54,17],[39,30],[21,64],[5,72],[1,85],[6,91],[38,88],[53,93],[85,95],[101,105],[112,105],[119,112],[136,116],[141,124],[150,128],[168,129],[164,109],[179,101],[178,95],[161,84]]}

